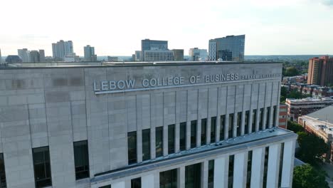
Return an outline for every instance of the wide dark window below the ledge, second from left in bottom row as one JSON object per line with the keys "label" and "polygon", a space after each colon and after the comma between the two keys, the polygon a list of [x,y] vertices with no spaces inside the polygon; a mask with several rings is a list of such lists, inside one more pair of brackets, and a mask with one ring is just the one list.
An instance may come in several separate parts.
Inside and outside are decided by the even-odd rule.
{"label": "wide dark window below the ledge, second from left in bottom row", "polygon": [[159,172],[159,188],[177,188],[177,169]]}

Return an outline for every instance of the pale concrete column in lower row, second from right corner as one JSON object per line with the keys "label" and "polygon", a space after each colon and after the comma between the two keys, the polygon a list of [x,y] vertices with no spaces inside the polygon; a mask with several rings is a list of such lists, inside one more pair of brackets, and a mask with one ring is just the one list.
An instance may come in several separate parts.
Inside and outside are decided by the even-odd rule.
{"label": "pale concrete column in lower row, second from right corner", "polygon": [[268,154],[267,187],[277,187],[279,180],[281,144],[270,145]]}

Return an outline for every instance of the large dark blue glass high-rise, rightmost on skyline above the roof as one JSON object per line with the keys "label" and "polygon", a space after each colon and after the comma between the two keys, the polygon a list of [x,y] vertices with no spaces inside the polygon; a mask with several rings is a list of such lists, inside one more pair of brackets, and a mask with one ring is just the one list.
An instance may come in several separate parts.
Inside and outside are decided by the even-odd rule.
{"label": "large dark blue glass high-rise, rightmost on skyline above the roof", "polygon": [[245,35],[209,40],[209,61],[244,61]]}

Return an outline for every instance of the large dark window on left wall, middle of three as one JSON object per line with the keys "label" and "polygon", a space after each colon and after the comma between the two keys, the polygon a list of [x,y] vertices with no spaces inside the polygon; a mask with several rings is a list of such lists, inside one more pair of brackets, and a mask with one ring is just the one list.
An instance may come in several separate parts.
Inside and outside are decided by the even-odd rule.
{"label": "large dark window on left wall, middle of three", "polygon": [[33,148],[33,170],[35,171],[36,187],[52,186],[48,146]]}

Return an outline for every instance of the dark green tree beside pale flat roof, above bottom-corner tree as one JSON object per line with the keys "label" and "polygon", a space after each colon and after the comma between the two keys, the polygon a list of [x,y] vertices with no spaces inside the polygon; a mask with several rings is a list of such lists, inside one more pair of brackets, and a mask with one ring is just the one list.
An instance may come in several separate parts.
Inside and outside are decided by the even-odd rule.
{"label": "dark green tree beside pale flat roof, above bottom-corner tree", "polygon": [[296,157],[304,162],[316,164],[322,155],[329,150],[327,143],[321,137],[307,132],[297,132],[297,135],[300,149],[296,153]]}

